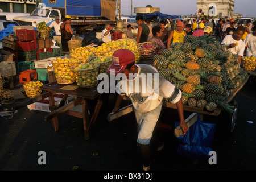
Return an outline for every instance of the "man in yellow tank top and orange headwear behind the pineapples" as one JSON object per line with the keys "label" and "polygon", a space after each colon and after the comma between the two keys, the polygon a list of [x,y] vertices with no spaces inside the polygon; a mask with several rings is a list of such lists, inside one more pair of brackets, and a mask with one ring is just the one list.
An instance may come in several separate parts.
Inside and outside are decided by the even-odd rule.
{"label": "man in yellow tank top and orange headwear behind the pineapples", "polygon": [[167,39],[167,48],[170,48],[171,43],[175,44],[176,42],[183,42],[184,36],[186,36],[184,31],[184,23],[179,21],[177,22],[177,30],[171,31]]}

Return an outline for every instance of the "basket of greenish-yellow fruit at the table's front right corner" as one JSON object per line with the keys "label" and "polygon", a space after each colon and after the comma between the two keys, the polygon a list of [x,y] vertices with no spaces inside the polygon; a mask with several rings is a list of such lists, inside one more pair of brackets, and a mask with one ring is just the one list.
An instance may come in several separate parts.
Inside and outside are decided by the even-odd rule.
{"label": "basket of greenish-yellow fruit at the table's front right corner", "polygon": [[98,69],[100,64],[84,63],[73,66],[77,86],[81,88],[92,88],[98,85]]}

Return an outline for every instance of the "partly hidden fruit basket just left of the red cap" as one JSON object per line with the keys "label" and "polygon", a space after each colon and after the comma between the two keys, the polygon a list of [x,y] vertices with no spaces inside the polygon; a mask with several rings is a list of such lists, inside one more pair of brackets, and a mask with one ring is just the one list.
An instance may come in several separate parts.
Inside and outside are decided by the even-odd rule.
{"label": "partly hidden fruit basket just left of the red cap", "polygon": [[110,64],[112,63],[112,57],[106,57],[106,56],[94,56],[89,57],[88,59],[89,63],[97,63],[100,64],[100,68],[98,69],[98,73],[105,73],[107,69],[109,68]]}

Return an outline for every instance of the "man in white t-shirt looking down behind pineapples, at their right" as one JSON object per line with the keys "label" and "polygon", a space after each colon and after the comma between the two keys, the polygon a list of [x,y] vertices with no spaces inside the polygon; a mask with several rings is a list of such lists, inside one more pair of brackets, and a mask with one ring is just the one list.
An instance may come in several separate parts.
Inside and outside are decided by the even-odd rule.
{"label": "man in white t-shirt looking down behind pineapples, at their right", "polygon": [[245,51],[245,43],[241,39],[244,33],[245,28],[237,27],[233,35],[225,36],[221,42],[221,44],[224,44],[230,52],[237,55],[239,64],[241,64],[243,52]]}

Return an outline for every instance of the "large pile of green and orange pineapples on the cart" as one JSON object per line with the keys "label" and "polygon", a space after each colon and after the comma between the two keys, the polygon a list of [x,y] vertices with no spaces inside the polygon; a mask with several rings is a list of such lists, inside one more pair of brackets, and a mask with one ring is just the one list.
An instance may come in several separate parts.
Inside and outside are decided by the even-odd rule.
{"label": "large pile of green and orange pineapples on the cart", "polygon": [[236,55],[213,35],[186,35],[183,43],[172,44],[162,53],[154,56],[153,65],[181,90],[184,105],[210,112],[217,108],[233,111],[225,98],[245,80],[247,73]]}

